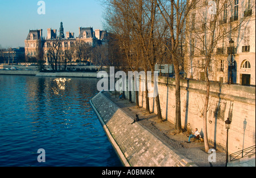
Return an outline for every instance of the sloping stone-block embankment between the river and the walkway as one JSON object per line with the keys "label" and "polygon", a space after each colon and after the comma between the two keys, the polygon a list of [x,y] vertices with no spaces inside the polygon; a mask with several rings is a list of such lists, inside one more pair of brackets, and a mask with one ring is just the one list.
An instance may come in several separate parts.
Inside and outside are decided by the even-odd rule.
{"label": "sloping stone-block embankment between the river and the walkway", "polygon": [[131,125],[133,118],[101,92],[90,103],[125,166],[196,166],[137,122]]}

